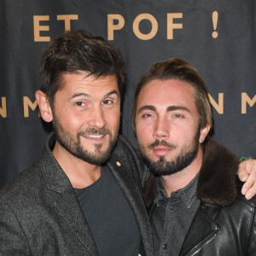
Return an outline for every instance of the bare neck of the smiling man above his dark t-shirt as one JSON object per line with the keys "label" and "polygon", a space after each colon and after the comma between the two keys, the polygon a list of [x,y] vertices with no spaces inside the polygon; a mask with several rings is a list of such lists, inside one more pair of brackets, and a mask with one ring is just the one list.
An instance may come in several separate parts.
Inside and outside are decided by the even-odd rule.
{"label": "bare neck of the smiling man above his dark t-shirt", "polygon": [[92,165],[70,154],[57,141],[52,151],[55,159],[66,173],[73,188],[83,189],[101,177],[102,166]]}

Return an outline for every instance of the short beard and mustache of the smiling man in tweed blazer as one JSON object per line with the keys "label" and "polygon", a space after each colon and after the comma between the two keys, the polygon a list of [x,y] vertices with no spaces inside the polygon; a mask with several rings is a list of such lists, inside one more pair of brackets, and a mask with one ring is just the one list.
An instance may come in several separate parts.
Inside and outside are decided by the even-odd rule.
{"label": "short beard and mustache of the smiling man in tweed blazer", "polygon": [[[88,127],[85,131],[79,131],[76,136],[66,131],[61,123],[54,117],[53,130],[55,132],[56,141],[61,144],[70,154],[77,158],[84,160],[92,165],[102,166],[110,157],[115,143],[118,139],[119,131],[112,134],[106,127],[97,129],[95,127]],[[95,144],[94,152],[89,152],[81,145],[81,137],[83,135],[107,135],[109,136],[109,145],[105,152],[101,152],[102,143]]]}

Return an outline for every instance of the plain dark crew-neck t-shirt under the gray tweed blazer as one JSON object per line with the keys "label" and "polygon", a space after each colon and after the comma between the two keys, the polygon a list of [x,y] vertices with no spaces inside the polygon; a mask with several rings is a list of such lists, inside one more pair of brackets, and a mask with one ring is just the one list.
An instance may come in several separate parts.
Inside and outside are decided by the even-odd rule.
{"label": "plain dark crew-neck t-shirt under the gray tweed blazer", "polygon": [[84,189],[75,189],[101,256],[137,256],[140,233],[129,202],[108,166]]}

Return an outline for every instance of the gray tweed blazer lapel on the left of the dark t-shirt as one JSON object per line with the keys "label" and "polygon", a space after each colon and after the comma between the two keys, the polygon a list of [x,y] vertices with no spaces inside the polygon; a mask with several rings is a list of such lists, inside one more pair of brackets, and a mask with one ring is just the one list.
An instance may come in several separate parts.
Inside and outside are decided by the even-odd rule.
{"label": "gray tweed blazer lapel on the left of the dark t-shirt", "polygon": [[88,252],[93,256],[99,255],[73,187],[49,149],[54,142],[55,138],[49,137],[49,142],[40,159],[40,168],[47,183],[49,198],[53,201],[56,211],[61,213],[68,227],[73,231],[74,236]]}

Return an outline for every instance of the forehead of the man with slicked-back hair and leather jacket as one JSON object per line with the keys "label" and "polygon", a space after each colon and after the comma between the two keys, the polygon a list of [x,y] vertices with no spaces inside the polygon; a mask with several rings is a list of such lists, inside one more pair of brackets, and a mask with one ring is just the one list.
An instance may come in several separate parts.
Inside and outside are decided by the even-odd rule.
{"label": "forehead of the man with slicked-back hair and leather jacket", "polygon": [[144,85],[138,96],[137,109],[145,105],[155,108],[184,106],[196,109],[195,89],[191,84],[178,79],[154,79]]}

